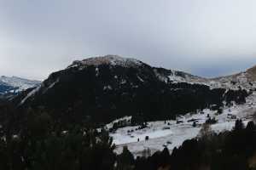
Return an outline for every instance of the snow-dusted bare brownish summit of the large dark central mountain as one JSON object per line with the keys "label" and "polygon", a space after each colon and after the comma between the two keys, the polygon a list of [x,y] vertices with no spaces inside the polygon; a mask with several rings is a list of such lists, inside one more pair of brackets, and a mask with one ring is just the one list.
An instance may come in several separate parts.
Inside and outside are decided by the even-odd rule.
{"label": "snow-dusted bare brownish summit of the large dark central mountain", "polygon": [[137,59],[123,58],[119,55],[105,55],[73,61],[73,64],[69,65],[67,68],[84,67],[86,65],[119,65],[123,67],[138,67],[142,64],[143,62]]}

